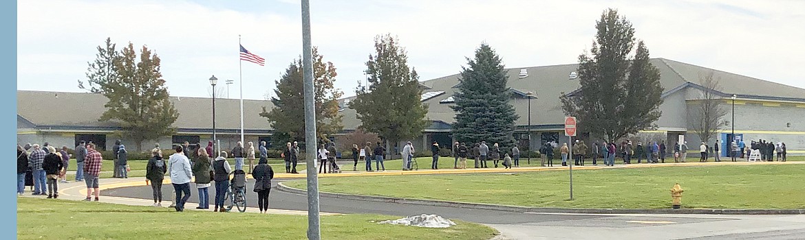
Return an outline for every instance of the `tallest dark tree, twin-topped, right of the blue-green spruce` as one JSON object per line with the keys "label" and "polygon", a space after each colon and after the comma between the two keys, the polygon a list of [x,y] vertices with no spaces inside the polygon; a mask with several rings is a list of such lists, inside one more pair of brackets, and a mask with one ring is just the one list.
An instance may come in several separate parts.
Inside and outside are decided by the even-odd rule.
{"label": "tallest dark tree, twin-topped, right of the blue-green spruce", "polygon": [[614,141],[644,129],[656,128],[662,112],[663,87],[659,71],[649,62],[642,41],[634,58],[632,23],[608,9],[596,22],[592,56],[579,56],[580,89],[562,97],[568,116],[576,116],[580,132]]}

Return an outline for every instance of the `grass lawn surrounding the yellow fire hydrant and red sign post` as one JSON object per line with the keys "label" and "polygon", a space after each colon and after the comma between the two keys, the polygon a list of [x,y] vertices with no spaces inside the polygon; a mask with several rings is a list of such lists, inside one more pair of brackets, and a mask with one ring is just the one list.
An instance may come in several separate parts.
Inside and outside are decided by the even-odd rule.
{"label": "grass lawn surrounding the yellow fire hydrant and red sign post", "polygon": [[[668,208],[671,187],[683,208],[803,209],[805,165],[689,166],[516,174],[320,178],[324,192],[563,208]],[[288,181],[295,188],[305,181]]]}

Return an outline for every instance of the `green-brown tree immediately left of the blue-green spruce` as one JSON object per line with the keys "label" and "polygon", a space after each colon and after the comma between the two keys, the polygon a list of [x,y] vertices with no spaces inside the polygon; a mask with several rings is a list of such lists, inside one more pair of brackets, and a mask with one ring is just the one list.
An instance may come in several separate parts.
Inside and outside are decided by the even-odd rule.
{"label": "green-brown tree immediately left of the blue-green spruce", "polygon": [[406,51],[391,35],[375,37],[374,48],[375,55],[366,62],[369,86],[358,83],[349,108],[357,112],[361,128],[377,132],[387,144],[420,136],[430,121],[425,119],[419,76],[408,67]]}

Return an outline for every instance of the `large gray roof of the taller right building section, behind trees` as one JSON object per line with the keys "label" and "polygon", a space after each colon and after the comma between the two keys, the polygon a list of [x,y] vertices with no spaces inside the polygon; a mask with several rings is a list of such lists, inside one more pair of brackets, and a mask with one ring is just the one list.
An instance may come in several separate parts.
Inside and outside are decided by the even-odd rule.
{"label": "large gray roof of the taller right building section, behind trees", "polygon": [[[660,71],[660,84],[663,86],[666,93],[678,91],[680,88],[689,85],[701,84],[699,75],[713,71],[714,76],[721,79],[723,92],[729,93],[730,95],[737,94],[739,96],[745,96],[746,98],[755,97],[757,99],[766,100],[770,100],[770,98],[758,96],[772,97],[772,99],[778,97],[805,98],[805,89],[798,87],[772,83],[766,80],[755,79],[725,71],[712,70],[707,67],[680,63],[669,59],[651,59],[650,61],[654,67],[657,67]],[[551,127],[563,123],[564,112],[561,108],[559,96],[562,93],[567,94],[573,92],[580,87],[579,79],[569,78],[570,73],[576,71],[578,66],[579,64],[564,64],[506,69],[509,75],[508,86],[511,87],[513,92],[534,92],[537,97],[531,100],[532,126],[541,125],[543,127]],[[525,69],[528,74],[524,78],[519,77],[521,69]],[[440,100],[447,99],[457,91],[457,89],[453,87],[459,83],[459,76],[459,74],[448,75],[421,83],[425,87],[429,87],[423,89],[423,93],[445,92],[440,96],[424,101],[425,104],[429,105],[427,112],[428,119],[443,121],[448,124],[455,122],[455,112],[449,107],[452,104],[440,104]],[[805,102],[805,99],[802,99],[802,101]],[[515,97],[510,103],[514,105],[518,116],[520,116],[515,124],[518,126],[527,126],[528,99]],[[355,118],[355,111],[345,109],[341,114],[344,115],[345,129],[354,129],[361,124],[360,120]]]}

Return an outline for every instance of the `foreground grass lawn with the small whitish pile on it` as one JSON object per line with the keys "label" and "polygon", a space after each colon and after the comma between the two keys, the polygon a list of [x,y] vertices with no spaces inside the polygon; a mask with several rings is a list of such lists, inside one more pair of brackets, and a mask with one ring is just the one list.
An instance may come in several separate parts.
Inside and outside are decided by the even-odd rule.
{"label": "foreground grass lawn with the small whitish pile on it", "polygon": [[[322,239],[489,239],[487,226],[447,229],[378,224],[396,217],[321,217]],[[97,202],[17,198],[18,239],[306,239],[307,216],[234,214]]]}

